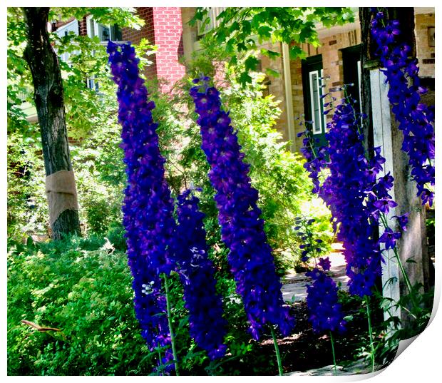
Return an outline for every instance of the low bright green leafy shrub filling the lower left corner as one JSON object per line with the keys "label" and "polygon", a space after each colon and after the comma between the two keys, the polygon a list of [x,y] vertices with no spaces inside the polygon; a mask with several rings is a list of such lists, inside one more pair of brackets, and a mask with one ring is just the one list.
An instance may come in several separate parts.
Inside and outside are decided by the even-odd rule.
{"label": "low bright green leafy shrub filling the lower left corner", "polygon": [[[133,314],[122,252],[103,238],[11,244],[8,373],[148,374],[148,349]],[[87,249],[87,250],[85,250]],[[21,320],[59,331],[38,332]]]}

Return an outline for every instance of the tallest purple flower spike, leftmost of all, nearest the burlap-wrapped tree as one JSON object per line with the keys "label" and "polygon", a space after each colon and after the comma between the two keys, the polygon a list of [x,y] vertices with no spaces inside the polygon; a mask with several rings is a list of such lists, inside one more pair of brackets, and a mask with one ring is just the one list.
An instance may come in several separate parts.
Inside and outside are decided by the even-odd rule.
{"label": "tallest purple flower spike, leftmost of all, nearest the burlap-wrapped tree", "polygon": [[[130,44],[109,42],[109,62],[118,85],[118,121],[123,127],[121,148],[128,185],[123,204],[123,225],[128,245],[128,265],[133,275],[135,315],[151,351],[170,346],[166,302],[160,275],[173,269],[175,232],[173,200],[164,178],[164,158],[158,148],[157,124],[153,123],[138,58]],[[163,364],[173,360],[166,349]],[[168,369],[173,364],[168,364]]]}

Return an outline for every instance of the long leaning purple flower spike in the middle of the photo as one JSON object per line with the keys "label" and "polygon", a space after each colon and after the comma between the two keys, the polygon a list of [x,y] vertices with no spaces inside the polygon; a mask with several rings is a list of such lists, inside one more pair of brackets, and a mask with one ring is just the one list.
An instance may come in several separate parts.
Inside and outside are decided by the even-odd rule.
{"label": "long leaning purple flower spike in the middle of the photo", "polygon": [[264,221],[259,218],[258,192],[250,184],[249,165],[243,161],[245,155],[240,152],[229,114],[222,111],[220,94],[207,85],[208,80],[196,79],[194,83],[199,84],[190,89],[190,95],[199,115],[202,150],[211,166],[209,178],[217,191],[222,240],[230,250],[228,260],[237,293],[255,339],[267,323],[288,335],[294,320],[282,300],[272,249],[267,244]]}

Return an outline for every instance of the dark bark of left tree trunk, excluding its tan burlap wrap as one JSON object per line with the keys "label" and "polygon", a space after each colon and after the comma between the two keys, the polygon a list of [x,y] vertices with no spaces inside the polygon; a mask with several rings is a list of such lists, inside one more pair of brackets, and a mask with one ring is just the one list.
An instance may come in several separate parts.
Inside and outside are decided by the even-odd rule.
{"label": "dark bark of left tree trunk, excluding its tan burlap wrap", "polygon": [[[63,103],[63,83],[58,57],[47,31],[48,8],[23,8],[27,24],[24,58],[34,83],[34,101],[38,115],[46,177],[60,170],[72,170]],[[51,207],[50,207],[51,208]],[[80,234],[78,210],[63,210],[51,224],[52,238]]]}

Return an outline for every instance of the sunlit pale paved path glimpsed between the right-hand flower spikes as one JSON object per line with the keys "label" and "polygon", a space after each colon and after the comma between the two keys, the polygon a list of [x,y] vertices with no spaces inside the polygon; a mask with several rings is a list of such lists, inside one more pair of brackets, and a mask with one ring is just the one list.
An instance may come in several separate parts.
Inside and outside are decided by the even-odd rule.
{"label": "sunlit pale paved path glimpsed between the right-hand flower spikes", "polygon": [[[339,244],[338,244],[339,245]],[[339,252],[339,247],[334,245],[334,251],[327,255],[332,263],[330,271],[332,278],[338,285],[341,282],[341,289],[348,290],[347,282],[349,277],[345,275],[345,260],[344,255]],[[310,284],[311,279],[305,275],[305,272],[298,272],[297,274],[287,274],[284,276],[284,285],[282,285],[282,298],[286,302],[299,302],[305,300],[307,297],[307,285]]]}

